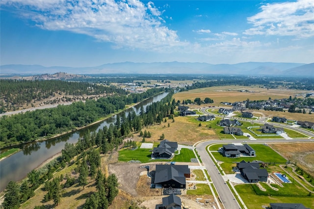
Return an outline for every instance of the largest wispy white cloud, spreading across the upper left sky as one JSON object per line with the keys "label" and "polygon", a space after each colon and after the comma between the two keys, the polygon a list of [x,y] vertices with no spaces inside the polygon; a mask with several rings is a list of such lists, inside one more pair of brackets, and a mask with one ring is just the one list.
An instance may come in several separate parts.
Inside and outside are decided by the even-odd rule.
{"label": "largest wispy white cloud, spreading across the upper left sky", "polygon": [[43,29],[86,34],[117,48],[162,50],[186,45],[180,42],[177,31],[163,25],[162,12],[153,2],[16,0],[1,4],[15,6],[19,15]]}

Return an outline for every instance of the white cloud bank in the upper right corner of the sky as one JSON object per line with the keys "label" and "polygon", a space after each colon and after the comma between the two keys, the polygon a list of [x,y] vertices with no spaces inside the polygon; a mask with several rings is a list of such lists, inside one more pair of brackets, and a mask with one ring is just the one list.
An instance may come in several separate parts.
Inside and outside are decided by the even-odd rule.
{"label": "white cloud bank in the upper right corner of the sky", "polygon": [[260,7],[262,11],[247,18],[252,28],[246,35],[314,36],[314,1],[280,2]]}

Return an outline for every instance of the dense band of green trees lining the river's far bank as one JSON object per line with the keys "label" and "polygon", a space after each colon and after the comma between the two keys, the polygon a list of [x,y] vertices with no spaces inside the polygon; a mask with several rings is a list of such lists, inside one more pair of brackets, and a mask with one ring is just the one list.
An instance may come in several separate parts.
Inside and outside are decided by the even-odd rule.
{"label": "dense band of green trees lining the river's far bank", "polygon": [[2,116],[0,148],[75,130],[124,109],[126,104],[138,103],[162,91],[163,88],[154,88],[141,94],[104,97],[97,101],[86,100],[85,103],[75,102],[71,105],[58,105],[56,108]]}

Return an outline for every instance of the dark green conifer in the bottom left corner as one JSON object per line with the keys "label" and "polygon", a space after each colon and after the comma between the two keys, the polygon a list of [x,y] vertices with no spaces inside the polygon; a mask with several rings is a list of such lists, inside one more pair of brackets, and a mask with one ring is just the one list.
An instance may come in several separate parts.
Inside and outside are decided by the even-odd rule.
{"label": "dark green conifer in the bottom left corner", "polygon": [[10,181],[4,190],[4,209],[18,209],[20,207],[19,185],[16,182]]}

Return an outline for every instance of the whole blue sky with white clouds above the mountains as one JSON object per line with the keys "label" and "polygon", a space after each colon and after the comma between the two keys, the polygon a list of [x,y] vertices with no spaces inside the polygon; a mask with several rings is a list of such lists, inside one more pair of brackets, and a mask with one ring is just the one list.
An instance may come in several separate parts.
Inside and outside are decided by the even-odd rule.
{"label": "whole blue sky with white clouds above the mountains", "polygon": [[1,0],[0,63],[314,62],[313,0]]}

